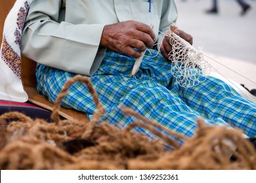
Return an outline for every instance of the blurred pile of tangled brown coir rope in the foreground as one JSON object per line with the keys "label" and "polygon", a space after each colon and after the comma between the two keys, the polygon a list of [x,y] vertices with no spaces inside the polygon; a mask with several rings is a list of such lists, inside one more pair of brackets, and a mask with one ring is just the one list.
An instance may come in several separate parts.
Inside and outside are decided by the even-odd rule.
{"label": "blurred pile of tangled brown coir rope in the foreground", "polygon": [[[74,82],[85,82],[93,95],[97,111],[90,122],[59,118],[60,102]],[[1,115],[0,169],[256,169],[255,149],[240,130],[210,127],[199,119],[196,135],[188,139],[125,107],[123,112],[138,120],[117,129],[99,123],[104,112],[89,78],[75,76],[56,99],[53,123],[18,112]],[[159,139],[131,131],[136,126]],[[184,145],[156,128],[183,139]]]}

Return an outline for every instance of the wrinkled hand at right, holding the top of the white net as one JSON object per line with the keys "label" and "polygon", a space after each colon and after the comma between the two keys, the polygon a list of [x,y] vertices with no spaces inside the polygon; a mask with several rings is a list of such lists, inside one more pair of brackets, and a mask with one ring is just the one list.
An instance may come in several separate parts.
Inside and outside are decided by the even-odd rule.
{"label": "wrinkled hand at right, holding the top of the white net", "polygon": [[[184,39],[185,41],[189,42],[191,45],[193,44],[193,38],[191,35],[189,35],[188,33],[185,33],[184,31],[182,31],[181,29],[178,29],[178,27],[174,27],[174,31],[175,34],[179,35],[179,37],[181,37],[182,39]],[[169,52],[171,52],[171,50],[173,49],[171,44],[170,44],[170,40],[171,37],[169,36],[165,36],[163,38],[163,43],[160,46],[160,52],[163,56],[163,58],[170,60],[169,58]]]}

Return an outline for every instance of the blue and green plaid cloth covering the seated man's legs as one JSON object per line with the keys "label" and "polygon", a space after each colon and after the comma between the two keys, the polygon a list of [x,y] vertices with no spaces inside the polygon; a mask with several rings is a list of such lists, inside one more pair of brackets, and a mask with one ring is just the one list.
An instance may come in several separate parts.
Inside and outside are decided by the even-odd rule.
{"label": "blue and green plaid cloth covering the seated man's legs", "polygon": [[[154,54],[156,50],[152,50]],[[207,125],[226,125],[240,128],[249,137],[256,137],[256,105],[241,97],[235,90],[217,78],[208,76],[205,82],[191,88],[182,88],[169,72],[171,63],[161,56],[144,56],[137,75],[130,77],[135,59],[107,52],[91,82],[106,114],[107,121],[119,128],[135,121],[125,116],[121,105],[169,129],[191,137],[197,127],[196,120],[204,118]],[[67,73],[45,65],[37,65],[37,90],[54,102],[58,93],[74,73]],[[92,118],[95,104],[85,84],[70,88],[62,105],[86,112]],[[154,135],[140,127],[136,131]],[[164,132],[163,132],[164,133]],[[182,141],[177,139],[180,144]]]}

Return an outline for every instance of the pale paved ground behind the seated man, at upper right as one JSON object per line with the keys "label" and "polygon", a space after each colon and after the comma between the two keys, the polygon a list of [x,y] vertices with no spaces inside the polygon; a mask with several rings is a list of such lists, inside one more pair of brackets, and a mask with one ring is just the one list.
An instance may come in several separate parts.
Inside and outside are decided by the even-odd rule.
{"label": "pale paved ground behind the seated man, at upper right", "polygon": [[211,58],[253,80],[209,60],[222,75],[251,90],[256,88],[256,1],[246,2],[251,9],[240,16],[242,8],[234,0],[219,1],[219,14],[205,14],[211,8],[211,0],[176,0],[177,25],[193,35],[195,48],[202,48]]}

